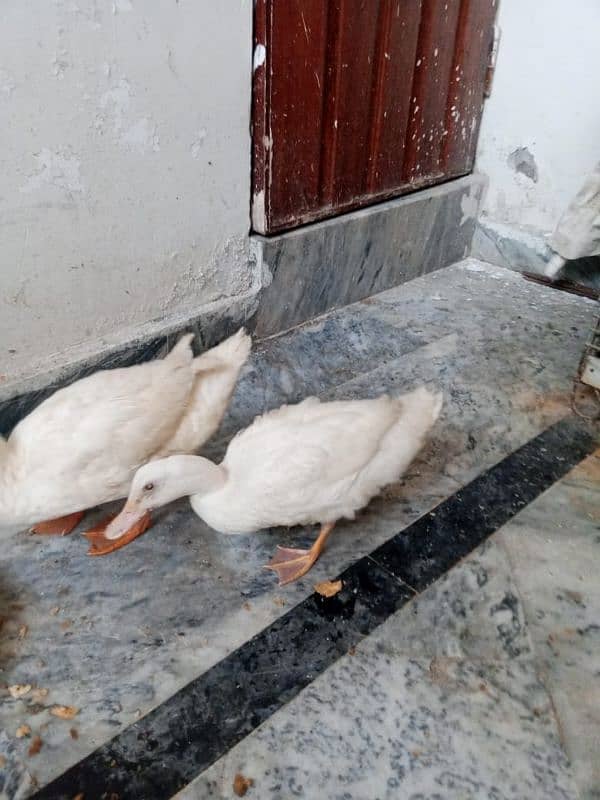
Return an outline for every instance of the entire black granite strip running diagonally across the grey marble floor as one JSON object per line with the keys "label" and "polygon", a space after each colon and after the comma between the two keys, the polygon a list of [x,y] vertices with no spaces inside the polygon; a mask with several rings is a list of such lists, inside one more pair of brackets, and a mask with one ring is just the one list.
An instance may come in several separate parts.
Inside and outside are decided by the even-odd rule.
{"label": "entire black granite strip running diagonally across the grey marble floor", "polygon": [[552,426],[35,796],[171,797],[594,448],[579,420]]}

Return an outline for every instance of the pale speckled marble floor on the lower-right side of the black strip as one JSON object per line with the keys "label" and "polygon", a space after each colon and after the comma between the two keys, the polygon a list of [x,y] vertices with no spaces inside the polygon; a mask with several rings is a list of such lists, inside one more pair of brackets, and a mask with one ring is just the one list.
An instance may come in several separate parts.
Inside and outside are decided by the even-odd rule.
{"label": "pale speckled marble floor on the lower-right side of the black strip", "polygon": [[600,797],[600,452],[178,795]]}

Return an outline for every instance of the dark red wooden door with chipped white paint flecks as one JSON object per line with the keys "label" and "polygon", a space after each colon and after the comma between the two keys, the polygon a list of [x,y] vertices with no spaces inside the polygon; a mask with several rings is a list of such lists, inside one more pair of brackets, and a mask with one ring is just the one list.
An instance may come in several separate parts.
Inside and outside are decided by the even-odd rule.
{"label": "dark red wooden door with chipped white paint flecks", "polygon": [[496,0],[256,0],[252,222],[470,172]]}

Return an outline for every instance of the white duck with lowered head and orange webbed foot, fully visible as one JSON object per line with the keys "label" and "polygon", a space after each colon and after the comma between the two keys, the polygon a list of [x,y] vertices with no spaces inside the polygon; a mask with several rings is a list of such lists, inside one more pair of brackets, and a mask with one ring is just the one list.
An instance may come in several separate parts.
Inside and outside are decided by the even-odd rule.
{"label": "white duck with lowered head and orange webbed foot, fully visible", "polygon": [[398,398],[282,406],[239,433],[219,465],[172,456],[143,466],[124,509],[92,541],[101,550],[152,509],[185,496],[222,533],[321,523],[310,550],[280,547],[267,565],[280,584],[289,583],[315,563],[337,520],[353,519],[402,475],[441,407],[442,395],[425,388]]}

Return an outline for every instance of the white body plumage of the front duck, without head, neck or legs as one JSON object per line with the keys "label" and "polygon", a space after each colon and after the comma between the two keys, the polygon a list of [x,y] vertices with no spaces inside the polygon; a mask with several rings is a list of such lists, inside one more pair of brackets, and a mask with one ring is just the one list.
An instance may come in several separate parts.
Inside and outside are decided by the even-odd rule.
{"label": "white body plumage of the front duck, without head, neck or legs", "polygon": [[224,533],[352,519],[407,469],[441,407],[441,394],[424,388],[283,406],[232,440],[225,483],[192,496],[192,507]]}

